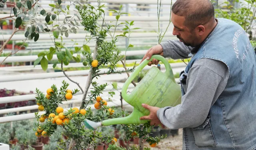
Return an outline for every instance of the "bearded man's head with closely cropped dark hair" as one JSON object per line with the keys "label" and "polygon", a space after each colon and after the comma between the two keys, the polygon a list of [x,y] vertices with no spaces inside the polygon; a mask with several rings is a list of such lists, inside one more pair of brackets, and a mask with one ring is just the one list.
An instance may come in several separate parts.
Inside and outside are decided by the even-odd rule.
{"label": "bearded man's head with closely cropped dark hair", "polygon": [[172,34],[186,46],[197,46],[214,28],[214,6],[209,0],[176,0],[172,6]]}

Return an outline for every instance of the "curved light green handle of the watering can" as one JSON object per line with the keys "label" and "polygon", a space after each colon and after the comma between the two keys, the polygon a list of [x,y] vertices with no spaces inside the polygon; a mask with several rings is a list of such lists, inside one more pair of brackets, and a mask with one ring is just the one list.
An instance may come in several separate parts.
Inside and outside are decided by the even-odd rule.
{"label": "curved light green handle of the watering can", "polygon": [[124,83],[124,86],[122,88],[122,97],[124,98],[124,100],[128,100],[128,94],[127,94],[127,89],[128,89],[128,86],[130,85],[130,83],[132,82],[132,80],[137,76],[137,74],[140,73],[140,71],[149,63],[151,62],[153,59],[156,59],[156,60],[160,60],[161,62],[164,63],[164,66],[166,68],[166,72],[165,74],[168,74],[168,76],[170,76],[170,78],[173,79],[174,82],[175,81],[175,78],[174,78],[174,75],[173,75],[173,72],[172,72],[172,68],[169,64],[169,62],[161,55],[153,55],[150,60],[143,60],[143,62],[136,67],[136,69],[134,70],[134,72],[131,74],[131,76],[126,80],[126,82]]}

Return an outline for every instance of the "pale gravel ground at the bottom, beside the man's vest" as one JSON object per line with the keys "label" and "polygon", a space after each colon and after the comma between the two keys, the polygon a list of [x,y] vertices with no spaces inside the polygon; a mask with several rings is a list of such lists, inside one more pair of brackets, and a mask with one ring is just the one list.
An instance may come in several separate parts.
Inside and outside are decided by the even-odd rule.
{"label": "pale gravel ground at the bottom, beside the man's vest", "polygon": [[178,136],[169,136],[161,140],[154,148],[151,148],[148,142],[144,144],[144,147],[150,147],[151,150],[182,150],[182,129],[178,132]]}

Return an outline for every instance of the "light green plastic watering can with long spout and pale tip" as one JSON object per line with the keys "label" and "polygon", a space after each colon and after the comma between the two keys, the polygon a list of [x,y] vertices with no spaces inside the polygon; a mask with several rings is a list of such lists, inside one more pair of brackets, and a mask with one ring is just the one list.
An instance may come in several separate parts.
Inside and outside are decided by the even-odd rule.
{"label": "light green plastic watering can with long spout and pale tip", "polygon": [[[132,80],[139,72],[153,59],[164,63],[166,72],[161,72],[153,66],[137,84],[134,90],[127,94],[127,89]],[[140,120],[142,116],[148,116],[150,111],[142,107],[142,103],[150,106],[163,108],[166,106],[176,106],[181,103],[180,85],[176,83],[172,68],[169,62],[161,55],[153,55],[150,60],[144,60],[136,67],[131,76],[126,80],[122,88],[122,97],[134,107],[132,114],[123,118],[113,118],[102,122],[85,121],[88,128],[95,129],[98,126],[109,126],[113,124],[143,124],[147,120]]]}

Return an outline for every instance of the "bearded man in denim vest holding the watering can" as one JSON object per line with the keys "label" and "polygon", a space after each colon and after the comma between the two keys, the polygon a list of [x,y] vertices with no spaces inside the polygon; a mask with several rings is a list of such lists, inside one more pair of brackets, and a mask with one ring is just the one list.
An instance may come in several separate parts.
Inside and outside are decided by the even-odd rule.
{"label": "bearded man in denim vest holding the watering can", "polygon": [[183,128],[183,150],[255,150],[256,55],[245,31],[232,20],[215,19],[209,0],[176,0],[171,17],[179,40],[150,48],[142,61],[154,54],[192,57],[180,73],[182,102],[142,104],[150,115],[140,119]]}

